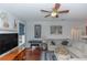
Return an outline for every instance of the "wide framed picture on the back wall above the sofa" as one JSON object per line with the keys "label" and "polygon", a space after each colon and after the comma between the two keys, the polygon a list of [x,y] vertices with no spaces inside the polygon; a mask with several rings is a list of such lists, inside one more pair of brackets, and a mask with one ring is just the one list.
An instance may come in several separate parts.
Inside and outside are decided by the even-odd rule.
{"label": "wide framed picture on the back wall above the sofa", "polygon": [[63,26],[62,25],[52,25],[51,26],[51,34],[62,34]]}

